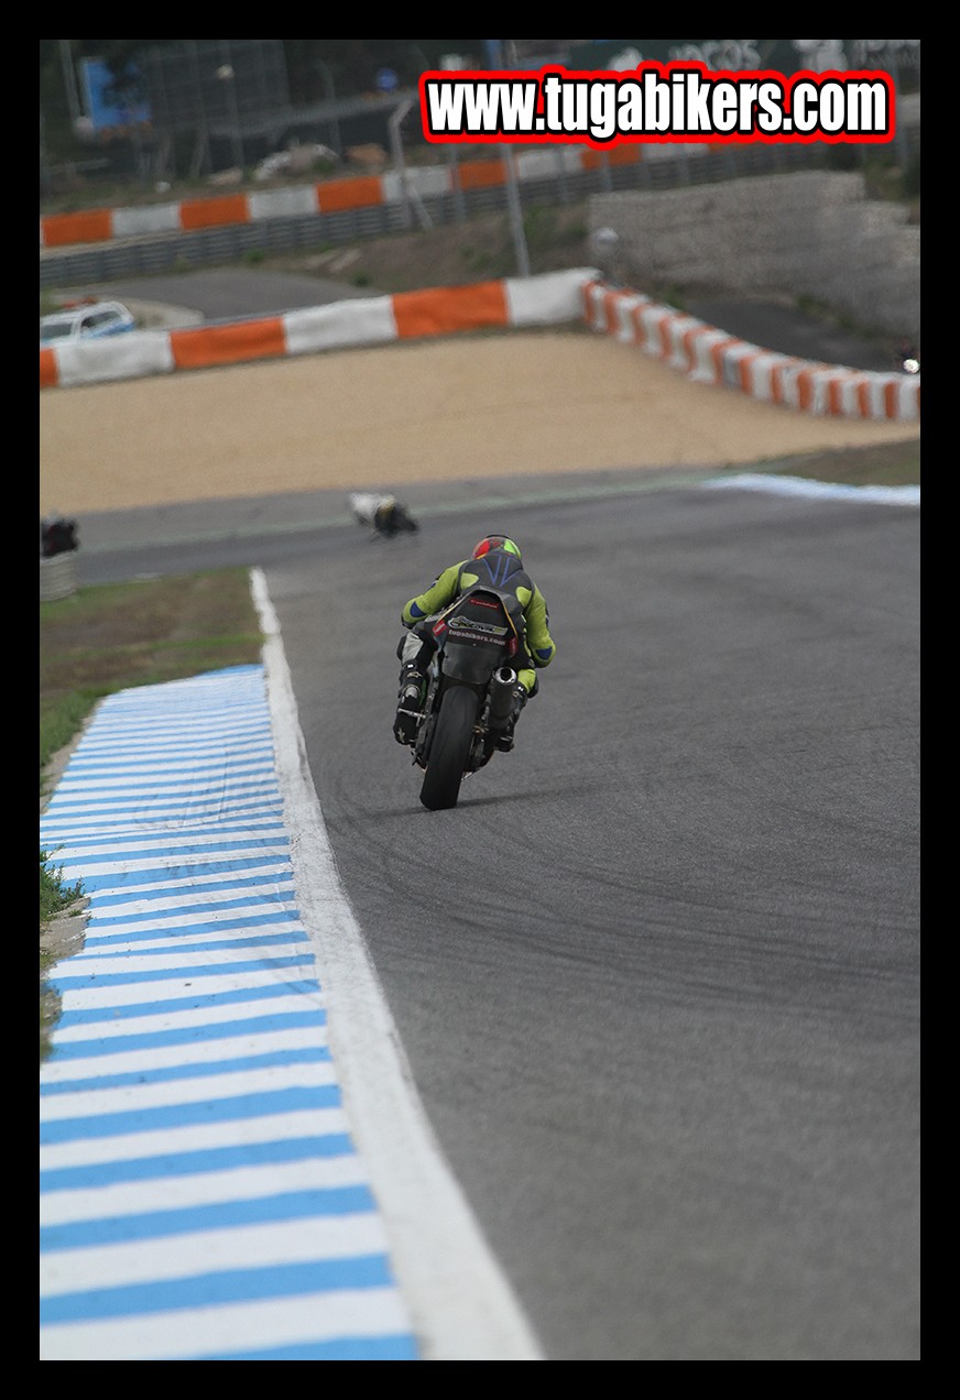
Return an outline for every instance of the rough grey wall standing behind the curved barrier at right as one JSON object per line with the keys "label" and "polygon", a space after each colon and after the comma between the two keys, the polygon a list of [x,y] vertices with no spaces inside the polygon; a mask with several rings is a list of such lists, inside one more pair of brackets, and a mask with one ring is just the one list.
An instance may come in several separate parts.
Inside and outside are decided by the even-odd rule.
{"label": "rough grey wall standing behind the curved barrier at right", "polygon": [[658,192],[595,195],[633,287],[807,295],[865,329],[919,344],[919,225],[868,200],[859,172],[799,171]]}

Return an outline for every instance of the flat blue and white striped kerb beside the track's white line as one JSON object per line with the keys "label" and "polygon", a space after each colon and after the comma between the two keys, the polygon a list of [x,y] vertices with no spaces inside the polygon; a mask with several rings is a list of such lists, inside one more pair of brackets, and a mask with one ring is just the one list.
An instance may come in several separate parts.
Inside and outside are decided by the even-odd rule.
{"label": "flat blue and white striped kerb beside the track's white line", "polygon": [[41,819],[41,1359],[416,1361],[294,899],[264,671],[125,690]]}

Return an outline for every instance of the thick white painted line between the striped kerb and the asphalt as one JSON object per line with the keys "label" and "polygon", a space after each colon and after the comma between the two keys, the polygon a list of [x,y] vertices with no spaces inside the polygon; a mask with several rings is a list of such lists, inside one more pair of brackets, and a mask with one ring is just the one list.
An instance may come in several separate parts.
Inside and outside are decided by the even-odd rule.
{"label": "thick white painted line between the striped kerb and the asphalt", "polygon": [[543,1361],[445,1162],[340,883],[260,568],[250,570],[250,592],[266,638],[263,664],[298,909],[326,994],[344,1106],[383,1212],[423,1359]]}

